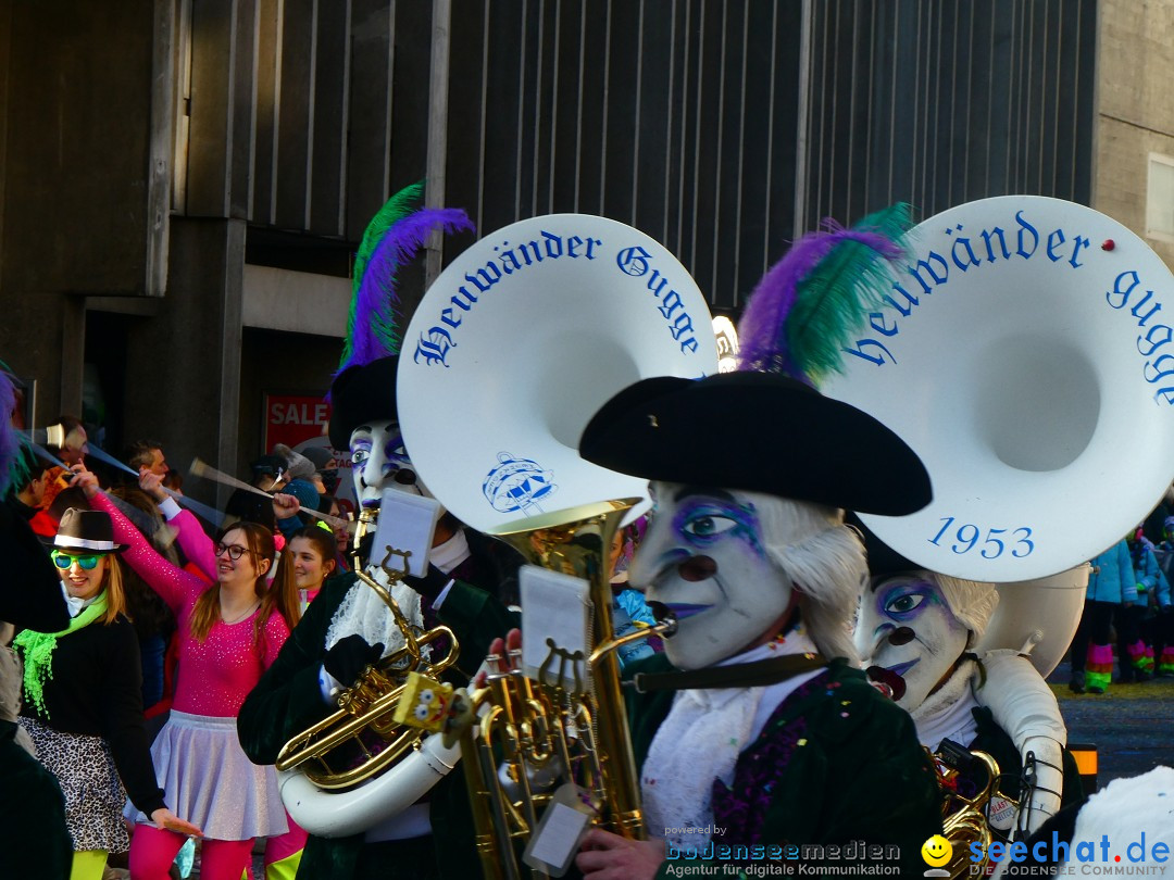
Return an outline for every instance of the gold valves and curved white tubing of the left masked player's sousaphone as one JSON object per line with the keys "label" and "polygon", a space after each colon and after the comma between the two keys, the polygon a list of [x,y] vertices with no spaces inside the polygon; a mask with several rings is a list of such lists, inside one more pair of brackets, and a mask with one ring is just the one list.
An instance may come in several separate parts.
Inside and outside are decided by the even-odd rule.
{"label": "gold valves and curved white tubing of the left masked player's sousaphone", "polygon": [[[352,569],[391,610],[404,645],[367,666],[338,697],[338,709],[290,738],[276,761],[285,808],[319,837],[356,834],[394,815],[436,785],[459,757],[440,737],[424,738],[423,731],[394,722],[409,673],[439,676],[456,662],[459,645],[447,627],[421,632],[411,625],[387,589],[363,570],[359,543],[377,516],[377,508],[359,515]],[[394,555],[393,548],[384,548],[380,563],[391,583],[404,574],[389,566]],[[429,648],[441,636],[450,639],[450,650],[432,659]]]}

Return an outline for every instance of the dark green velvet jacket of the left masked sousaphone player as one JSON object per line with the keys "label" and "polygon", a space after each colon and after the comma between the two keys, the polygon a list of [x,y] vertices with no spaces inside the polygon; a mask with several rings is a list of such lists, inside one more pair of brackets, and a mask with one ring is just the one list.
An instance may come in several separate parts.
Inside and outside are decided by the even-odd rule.
{"label": "dark green velvet jacket of the left masked sousaphone player", "polygon": [[[345,574],[326,582],[294,628],[274,665],[241,706],[237,717],[241,745],[257,764],[275,763],[277,753],[292,736],[331,713],[332,706],[322,699],[318,688],[318,670],[325,656],[331,618],[356,581],[353,574]],[[518,625],[517,616],[497,598],[459,580],[450,589],[438,616],[460,643],[457,669],[466,678],[480,665],[490,642]],[[454,880],[480,876],[468,793],[459,767],[433,787],[430,818],[440,876]],[[299,880],[352,880],[363,846],[362,834],[333,839],[311,835],[297,876]]]}

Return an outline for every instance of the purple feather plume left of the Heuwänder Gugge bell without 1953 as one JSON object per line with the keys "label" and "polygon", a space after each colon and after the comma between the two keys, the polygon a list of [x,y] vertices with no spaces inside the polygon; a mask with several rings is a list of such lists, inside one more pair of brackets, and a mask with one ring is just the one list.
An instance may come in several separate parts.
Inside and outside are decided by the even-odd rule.
{"label": "purple feather plume left of the Heuw\u00e4nder Gugge bell without 1953", "polygon": [[438,229],[448,235],[472,231],[473,222],[459,208],[421,208],[392,224],[376,245],[356,292],[351,354],[339,365],[336,375],[350,366],[370,364],[398,352],[396,275]]}

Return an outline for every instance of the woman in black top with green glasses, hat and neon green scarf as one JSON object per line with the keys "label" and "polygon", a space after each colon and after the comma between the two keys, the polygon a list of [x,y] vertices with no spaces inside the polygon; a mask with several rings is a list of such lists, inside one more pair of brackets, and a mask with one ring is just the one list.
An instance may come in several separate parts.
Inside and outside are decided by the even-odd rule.
{"label": "woman in black top with green glasses, hat and neon green scarf", "polygon": [[122,549],[107,514],[66,510],[52,559],[69,624],[58,632],[23,630],[15,641],[25,662],[20,724],[66,797],[70,880],[101,880],[107,854],[127,849],[128,794],[168,833],[201,833],[167,808],[156,781],[143,724],[139,639],[126,617],[114,555]]}

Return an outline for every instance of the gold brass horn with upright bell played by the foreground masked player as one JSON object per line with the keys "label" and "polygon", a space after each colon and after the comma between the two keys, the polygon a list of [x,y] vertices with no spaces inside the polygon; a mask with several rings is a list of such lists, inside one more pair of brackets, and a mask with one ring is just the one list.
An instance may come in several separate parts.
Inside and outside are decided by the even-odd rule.
{"label": "gold brass horn with upright bell played by the foreground masked player", "polygon": [[[464,725],[461,756],[487,880],[522,875],[514,844],[533,839],[558,798],[556,785],[575,786],[594,824],[645,838],[614,649],[672,631],[674,624],[669,620],[614,635],[606,550],[630,502],[606,507],[610,509],[562,524],[501,535],[532,564],[589,583],[595,647],[591,654],[571,654],[548,642],[534,677],[518,668],[520,651],[510,658],[491,656],[485,685],[468,695],[478,717]],[[533,873],[545,875],[540,867]]]}

